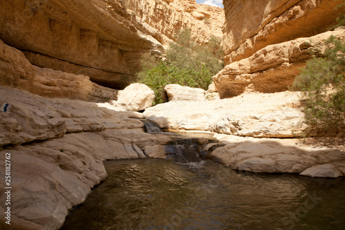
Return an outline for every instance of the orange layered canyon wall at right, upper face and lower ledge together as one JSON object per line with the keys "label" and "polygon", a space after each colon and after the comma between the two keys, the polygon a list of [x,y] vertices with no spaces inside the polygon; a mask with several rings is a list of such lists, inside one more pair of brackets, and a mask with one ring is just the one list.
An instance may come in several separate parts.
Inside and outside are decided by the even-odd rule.
{"label": "orange layered canyon wall at right, upper face and lower ledge together", "polygon": [[[306,61],[324,51],[326,32],[345,13],[337,0],[224,1],[224,64],[213,77],[221,98],[288,90]],[[319,48],[317,48],[319,47]]]}

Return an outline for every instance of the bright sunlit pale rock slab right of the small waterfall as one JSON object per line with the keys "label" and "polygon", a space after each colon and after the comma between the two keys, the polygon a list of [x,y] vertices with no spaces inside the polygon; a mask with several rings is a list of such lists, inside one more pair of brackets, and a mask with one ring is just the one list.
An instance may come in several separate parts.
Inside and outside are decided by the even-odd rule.
{"label": "bright sunlit pale rock slab right of the small waterfall", "polygon": [[172,101],[144,115],[161,128],[251,137],[295,137],[305,126],[299,93],[251,93],[208,102]]}

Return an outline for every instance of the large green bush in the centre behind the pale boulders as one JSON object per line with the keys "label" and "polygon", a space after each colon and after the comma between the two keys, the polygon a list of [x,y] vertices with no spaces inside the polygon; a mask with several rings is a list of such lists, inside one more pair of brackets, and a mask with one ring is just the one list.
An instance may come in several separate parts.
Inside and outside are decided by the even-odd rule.
{"label": "large green bush in the centre behind the pale boulders", "polygon": [[212,77],[223,68],[220,41],[212,37],[208,44],[199,46],[190,39],[190,30],[182,30],[176,43],[170,43],[166,60],[158,61],[146,54],[141,59],[142,70],[137,77],[155,91],[155,102],[164,102],[164,86],[180,84],[204,88],[212,83]]}

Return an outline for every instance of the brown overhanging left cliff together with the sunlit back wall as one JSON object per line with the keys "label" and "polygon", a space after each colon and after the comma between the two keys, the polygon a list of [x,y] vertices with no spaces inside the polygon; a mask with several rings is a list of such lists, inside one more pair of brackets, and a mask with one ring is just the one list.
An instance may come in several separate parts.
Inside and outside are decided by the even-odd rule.
{"label": "brown overhanging left cliff together with the sunlit back wall", "polygon": [[192,29],[200,43],[214,34],[210,28],[220,37],[221,11],[195,1],[1,1],[0,39],[36,66],[124,88],[141,54],[164,52],[180,28]]}

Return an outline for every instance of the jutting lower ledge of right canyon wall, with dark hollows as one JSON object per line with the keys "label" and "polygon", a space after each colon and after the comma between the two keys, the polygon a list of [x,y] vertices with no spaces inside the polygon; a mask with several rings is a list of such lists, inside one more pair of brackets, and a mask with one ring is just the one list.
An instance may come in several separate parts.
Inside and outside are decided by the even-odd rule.
{"label": "jutting lower ledge of right canyon wall, with dark hollows", "polygon": [[266,46],[246,59],[228,64],[213,77],[220,98],[235,97],[245,90],[261,93],[288,90],[306,60],[322,55],[324,40],[331,36],[345,41],[345,29]]}

